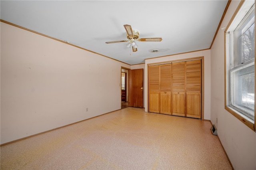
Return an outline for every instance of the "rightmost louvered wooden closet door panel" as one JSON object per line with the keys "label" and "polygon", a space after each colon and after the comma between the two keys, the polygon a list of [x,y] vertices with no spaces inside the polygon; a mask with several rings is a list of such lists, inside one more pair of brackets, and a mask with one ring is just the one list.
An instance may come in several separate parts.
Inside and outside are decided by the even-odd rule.
{"label": "rightmost louvered wooden closet door panel", "polygon": [[186,61],[186,116],[201,119],[201,60]]}

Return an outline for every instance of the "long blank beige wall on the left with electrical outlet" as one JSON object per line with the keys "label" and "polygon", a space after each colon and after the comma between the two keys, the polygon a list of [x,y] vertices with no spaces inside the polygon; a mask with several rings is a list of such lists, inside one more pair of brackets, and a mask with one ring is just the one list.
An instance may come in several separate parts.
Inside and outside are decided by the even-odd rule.
{"label": "long blank beige wall on the left with electrical outlet", "polygon": [[3,22],[0,48],[1,144],[121,108],[130,65]]}

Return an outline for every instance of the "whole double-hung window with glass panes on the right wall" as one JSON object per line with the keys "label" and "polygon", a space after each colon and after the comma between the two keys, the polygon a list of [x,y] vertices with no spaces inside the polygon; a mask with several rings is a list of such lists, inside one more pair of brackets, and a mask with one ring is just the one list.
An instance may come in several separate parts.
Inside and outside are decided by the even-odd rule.
{"label": "whole double-hung window with glass panes on the right wall", "polygon": [[255,131],[255,2],[241,2],[226,30],[225,108]]}

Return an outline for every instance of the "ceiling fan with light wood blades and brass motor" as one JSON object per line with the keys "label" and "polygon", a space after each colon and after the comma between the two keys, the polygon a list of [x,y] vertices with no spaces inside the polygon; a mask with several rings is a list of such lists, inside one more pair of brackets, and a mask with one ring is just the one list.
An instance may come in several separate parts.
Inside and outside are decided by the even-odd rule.
{"label": "ceiling fan with light wood blades and brass motor", "polygon": [[132,51],[137,51],[138,45],[135,41],[139,42],[160,42],[162,41],[162,38],[139,38],[140,33],[138,30],[132,30],[132,27],[130,25],[124,25],[124,28],[126,30],[126,35],[128,40],[121,40],[121,41],[114,41],[114,42],[106,42],[106,43],[118,43],[118,42],[129,42],[126,44],[126,46],[129,48],[132,48]]}

